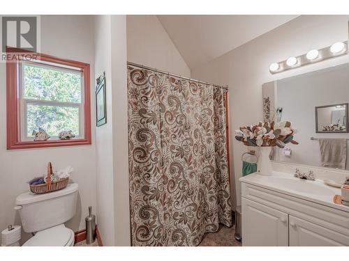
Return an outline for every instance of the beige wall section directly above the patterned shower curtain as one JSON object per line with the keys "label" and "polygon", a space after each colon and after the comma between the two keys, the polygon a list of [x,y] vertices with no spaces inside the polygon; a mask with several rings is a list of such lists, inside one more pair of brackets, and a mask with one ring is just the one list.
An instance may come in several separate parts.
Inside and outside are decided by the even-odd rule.
{"label": "beige wall section directly above the patterned shower curtain", "polygon": [[191,77],[156,15],[127,15],[127,61]]}

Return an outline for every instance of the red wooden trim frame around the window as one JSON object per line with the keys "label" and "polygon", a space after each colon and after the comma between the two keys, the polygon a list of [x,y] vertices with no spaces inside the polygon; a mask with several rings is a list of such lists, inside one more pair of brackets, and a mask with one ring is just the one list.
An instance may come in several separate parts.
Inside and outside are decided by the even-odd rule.
{"label": "red wooden trim frame around the window", "polygon": [[[28,53],[13,47],[6,48],[7,54]],[[26,148],[47,148],[70,145],[89,145],[91,144],[91,93],[90,93],[90,74],[89,64],[78,61],[57,58],[47,54],[34,54],[37,60],[68,65],[82,70],[84,77],[84,139],[54,140],[54,141],[21,141],[20,129],[20,84],[18,83],[17,68],[20,63],[20,56],[10,55],[11,60],[6,62],[6,129],[7,129],[7,149],[26,149]]]}

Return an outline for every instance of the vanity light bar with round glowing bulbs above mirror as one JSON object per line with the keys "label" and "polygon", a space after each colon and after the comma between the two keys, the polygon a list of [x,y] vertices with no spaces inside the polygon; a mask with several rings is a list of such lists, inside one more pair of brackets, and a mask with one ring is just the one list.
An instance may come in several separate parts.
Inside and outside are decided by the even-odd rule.
{"label": "vanity light bar with round glowing bulbs above mirror", "polygon": [[285,61],[281,61],[279,63],[272,63],[269,66],[269,72],[272,74],[276,74],[279,72],[284,72],[286,70],[299,68],[311,63],[318,63],[320,61],[324,61],[337,56],[342,56],[345,54],[348,54],[348,41],[335,42],[333,45],[329,47],[325,47],[318,50],[312,49],[306,54],[290,57],[287,58]]}

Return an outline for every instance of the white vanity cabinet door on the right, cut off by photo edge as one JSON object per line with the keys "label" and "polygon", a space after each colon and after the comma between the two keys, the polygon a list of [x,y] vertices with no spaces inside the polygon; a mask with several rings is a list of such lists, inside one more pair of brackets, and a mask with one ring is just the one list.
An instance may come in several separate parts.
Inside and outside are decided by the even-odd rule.
{"label": "white vanity cabinet door on the right, cut off by photo edge", "polygon": [[349,246],[349,237],[290,216],[290,246]]}

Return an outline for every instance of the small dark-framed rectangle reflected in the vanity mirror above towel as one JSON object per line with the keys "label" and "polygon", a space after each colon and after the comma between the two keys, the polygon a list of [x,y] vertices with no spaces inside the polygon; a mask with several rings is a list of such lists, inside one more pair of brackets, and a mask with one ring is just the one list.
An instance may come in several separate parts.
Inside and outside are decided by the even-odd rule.
{"label": "small dark-framed rectangle reflected in the vanity mirror above towel", "polygon": [[348,132],[348,103],[315,107],[316,133]]}

